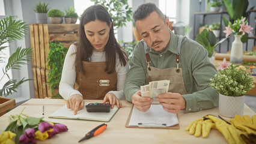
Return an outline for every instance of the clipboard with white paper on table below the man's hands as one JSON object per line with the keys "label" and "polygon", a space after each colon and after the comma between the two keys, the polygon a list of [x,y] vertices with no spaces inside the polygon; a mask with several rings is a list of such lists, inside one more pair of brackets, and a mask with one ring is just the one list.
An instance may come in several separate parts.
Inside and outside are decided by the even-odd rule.
{"label": "clipboard with white paper on table below the man's hands", "polygon": [[126,127],[179,129],[177,114],[166,112],[162,105],[151,104],[147,112],[132,107]]}

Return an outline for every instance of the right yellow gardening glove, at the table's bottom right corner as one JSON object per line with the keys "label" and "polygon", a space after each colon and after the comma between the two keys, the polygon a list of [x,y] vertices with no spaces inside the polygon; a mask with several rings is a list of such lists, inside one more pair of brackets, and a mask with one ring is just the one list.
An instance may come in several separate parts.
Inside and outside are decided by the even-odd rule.
{"label": "right yellow gardening glove, at the table's bottom right corner", "polygon": [[209,115],[209,119],[211,119],[216,124],[216,129],[219,130],[228,143],[235,144],[235,143],[245,143],[240,134],[243,134],[242,131],[237,130],[233,124],[228,121],[224,121],[222,119],[216,118],[215,116]]}

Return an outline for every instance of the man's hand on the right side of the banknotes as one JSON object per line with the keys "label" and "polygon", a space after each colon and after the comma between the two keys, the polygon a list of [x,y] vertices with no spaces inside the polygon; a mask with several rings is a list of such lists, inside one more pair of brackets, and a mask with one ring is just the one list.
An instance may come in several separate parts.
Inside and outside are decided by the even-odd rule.
{"label": "man's hand on the right side of the banknotes", "polygon": [[156,101],[159,101],[163,109],[170,113],[178,113],[181,109],[186,109],[186,100],[178,93],[159,94]]}

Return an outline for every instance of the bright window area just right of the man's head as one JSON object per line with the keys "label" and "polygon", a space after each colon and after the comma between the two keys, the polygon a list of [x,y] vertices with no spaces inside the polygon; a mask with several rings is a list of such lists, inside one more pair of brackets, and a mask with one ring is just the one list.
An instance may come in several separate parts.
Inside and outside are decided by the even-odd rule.
{"label": "bright window area just right of the man's head", "polygon": [[159,0],[159,9],[165,14],[169,21],[176,22],[177,0]]}

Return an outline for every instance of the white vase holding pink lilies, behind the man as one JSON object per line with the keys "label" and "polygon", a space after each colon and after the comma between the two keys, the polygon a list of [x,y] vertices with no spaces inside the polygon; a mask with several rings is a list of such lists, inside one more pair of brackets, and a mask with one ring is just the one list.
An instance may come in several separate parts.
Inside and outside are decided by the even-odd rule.
{"label": "white vase holding pink lilies, behind the man", "polygon": [[235,64],[243,63],[243,43],[241,41],[242,35],[234,35],[235,40],[231,46],[230,62]]}

